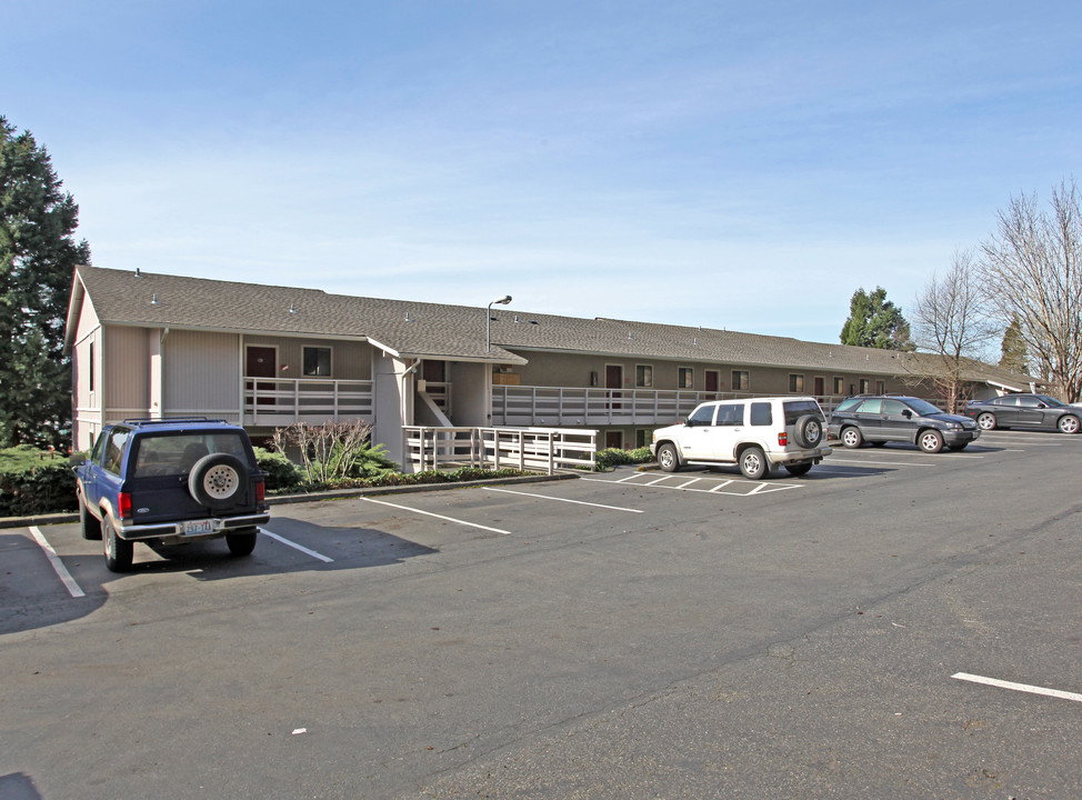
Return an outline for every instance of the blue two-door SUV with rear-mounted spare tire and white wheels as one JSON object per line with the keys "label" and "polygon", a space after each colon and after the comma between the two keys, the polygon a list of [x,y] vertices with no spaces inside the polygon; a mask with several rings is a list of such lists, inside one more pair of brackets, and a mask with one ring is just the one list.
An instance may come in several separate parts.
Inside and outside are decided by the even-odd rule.
{"label": "blue two-door SUV with rear-mounted spare tire and white wheels", "polygon": [[224,537],[256,548],[270,519],[263,473],[243,428],[206,418],[107,424],[89,458],[74,456],[79,521],[101,539],[106,566],[131,568],[133,542],[180,544]]}

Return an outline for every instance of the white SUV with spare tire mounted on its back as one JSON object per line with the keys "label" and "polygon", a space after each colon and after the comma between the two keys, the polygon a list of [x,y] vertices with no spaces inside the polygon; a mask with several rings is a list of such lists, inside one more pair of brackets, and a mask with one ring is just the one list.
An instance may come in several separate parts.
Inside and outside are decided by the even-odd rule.
{"label": "white SUV with spare tire mounted on its back", "polygon": [[749,398],[702,403],[682,424],[653,432],[650,451],[665,472],[689,463],[735,463],[759,480],[771,468],[801,476],[831,449],[826,418],[811,397]]}

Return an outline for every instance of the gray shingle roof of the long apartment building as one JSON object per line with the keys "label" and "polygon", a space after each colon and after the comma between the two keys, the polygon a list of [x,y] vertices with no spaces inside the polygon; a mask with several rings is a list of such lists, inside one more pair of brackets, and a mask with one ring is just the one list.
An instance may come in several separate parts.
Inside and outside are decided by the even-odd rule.
{"label": "gray shingle roof of the long apartment building", "polygon": [[[329,294],[315,289],[239,283],[80,267],[103,323],[368,339],[401,356],[522,363],[530,350],[785,367],[864,374],[919,373],[935,357],[614,319],[492,309],[485,352],[484,308]],[[73,298],[74,300],[74,298]],[[69,336],[72,319],[69,316]],[[973,363],[972,380],[1024,387],[1023,376]]]}

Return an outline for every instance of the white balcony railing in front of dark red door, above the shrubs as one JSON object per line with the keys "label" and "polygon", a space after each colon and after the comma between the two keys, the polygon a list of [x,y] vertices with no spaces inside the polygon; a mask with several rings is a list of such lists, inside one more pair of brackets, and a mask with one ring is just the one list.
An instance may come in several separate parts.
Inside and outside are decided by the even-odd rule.
{"label": "white balcony railing in front of dark red door, above the shrubs", "polygon": [[246,378],[247,426],[322,424],[374,420],[372,381],[329,378]]}

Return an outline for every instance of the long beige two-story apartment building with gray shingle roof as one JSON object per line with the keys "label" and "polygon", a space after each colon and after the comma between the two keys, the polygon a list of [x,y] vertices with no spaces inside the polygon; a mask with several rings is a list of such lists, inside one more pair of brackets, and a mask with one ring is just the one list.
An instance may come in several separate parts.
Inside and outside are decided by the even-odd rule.
{"label": "long beige two-story apartment building with gray shingle roof", "polygon": [[[591,428],[632,447],[705,399],[913,392],[929,358],[96,267],[76,271],[67,347],[76,448],[124,418],[206,414],[256,438],[355,419],[399,461],[411,424]],[[979,394],[1025,388],[973,370]]]}

